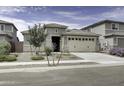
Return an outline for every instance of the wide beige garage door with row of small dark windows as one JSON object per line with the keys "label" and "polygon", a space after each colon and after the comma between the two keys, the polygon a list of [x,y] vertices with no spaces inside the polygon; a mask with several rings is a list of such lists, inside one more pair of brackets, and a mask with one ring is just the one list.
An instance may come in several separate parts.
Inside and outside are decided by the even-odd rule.
{"label": "wide beige garage door with row of small dark windows", "polygon": [[95,51],[95,40],[90,40],[89,38],[70,38],[68,40],[68,49],[73,52],[89,52]]}

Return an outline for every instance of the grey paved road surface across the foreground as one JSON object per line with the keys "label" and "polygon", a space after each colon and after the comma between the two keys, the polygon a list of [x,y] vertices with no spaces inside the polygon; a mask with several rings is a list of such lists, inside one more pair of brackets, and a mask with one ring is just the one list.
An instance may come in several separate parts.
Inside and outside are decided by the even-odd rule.
{"label": "grey paved road surface across the foreground", "polygon": [[124,66],[0,73],[0,85],[124,85]]}

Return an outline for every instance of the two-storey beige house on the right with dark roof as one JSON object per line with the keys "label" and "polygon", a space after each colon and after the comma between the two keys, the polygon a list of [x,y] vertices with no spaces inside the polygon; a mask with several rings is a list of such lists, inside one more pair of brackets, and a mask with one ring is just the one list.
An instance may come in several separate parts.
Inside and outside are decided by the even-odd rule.
{"label": "two-storey beige house on the right with dark roof", "polygon": [[101,50],[109,50],[114,47],[124,48],[124,22],[103,20],[81,30],[100,34]]}

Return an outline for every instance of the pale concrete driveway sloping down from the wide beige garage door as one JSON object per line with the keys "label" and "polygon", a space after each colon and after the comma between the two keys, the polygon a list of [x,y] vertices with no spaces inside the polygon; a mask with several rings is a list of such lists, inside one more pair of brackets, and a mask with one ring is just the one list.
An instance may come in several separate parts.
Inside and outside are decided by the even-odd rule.
{"label": "pale concrete driveway sloping down from the wide beige garage door", "polygon": [[124,57],[117,57],[104,53],[72,53],[72,54],[81,57],[85,60],[101,64],[124,63]]}

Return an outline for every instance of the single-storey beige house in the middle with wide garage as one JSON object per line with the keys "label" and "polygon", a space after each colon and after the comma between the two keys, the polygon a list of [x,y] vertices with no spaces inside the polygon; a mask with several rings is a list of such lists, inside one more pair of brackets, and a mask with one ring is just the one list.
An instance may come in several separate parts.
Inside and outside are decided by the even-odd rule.
{"label": "single-storey beige house in the middle with wide garage", "polygon": [[[48,34],[45,45],[48,47],[54,46],[54,52],[88,52],[99,50],[98,34],[83,32],[78,29],[69,30],[67,26],[55,23],[45,24],[44,28]],[[24,35],[23,51],[31,51],[28,42],[28,31],[23,31],[22,34]],[[41,48],[41,50],[43,50],[43,48]]]}

